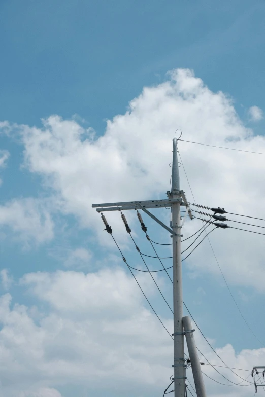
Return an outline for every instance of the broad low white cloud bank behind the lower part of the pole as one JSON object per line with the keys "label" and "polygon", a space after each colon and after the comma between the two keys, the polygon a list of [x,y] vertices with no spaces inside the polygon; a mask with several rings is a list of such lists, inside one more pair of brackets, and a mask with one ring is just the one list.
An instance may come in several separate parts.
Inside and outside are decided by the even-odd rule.
{"label": "broad low white cloud bank behind the lower part of the pole", "polygon": [[[121,394],[130,389],[146,397],[159,390],[162,393],[172,375],[173,344],[154,314],[144,308],[134,279],[116,269],[112,274],[109,270],[87,275],[70,271],[31,273],[21,283],[49,308],[35,321],[26,306],[12,307],[9,294],[1,298],[0,376],[8,380],[0,388],[3,396],[59,397],[58,384],[79,385],[89,395],[105,389],[111,394],[117,382]],[[145,290],[150,297],[149,289]],[[164,316],[162,320],[171,331],[172,320]],[[222,365],[200,334],[196,332],[195,337],[209,361]],[[236,353],[228,344],[217,346],[217,352],[235,368],[251,370],[265,360],[264,348]],[[228,379],[241,381],[229,370],[217,369]],[[210,366],[205,365],[203,371],[227,383]],[[190,372],[188,376],[191,379]],[[205,382],[209,397],[236,397],[239,392],[247,397],[254,387],[227,389],[208,378]]]}

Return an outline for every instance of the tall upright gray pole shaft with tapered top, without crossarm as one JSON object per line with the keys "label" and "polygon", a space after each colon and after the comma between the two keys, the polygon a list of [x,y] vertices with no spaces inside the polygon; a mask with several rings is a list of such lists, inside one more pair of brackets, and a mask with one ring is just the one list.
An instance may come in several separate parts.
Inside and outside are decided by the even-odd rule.
{"label": "tall upright gray pole shaft with tapered top, without crossarm", "polygon": [[[177,138],[173,139],[172,198],[180,197]],[[173,242],[173,308],[174,308],[174,390],[175,397],[185,397],[185,358],[183,335],[182,271],[181,271],[181,228],[180,204],[172,204],[172,229],[177,235]]]}

